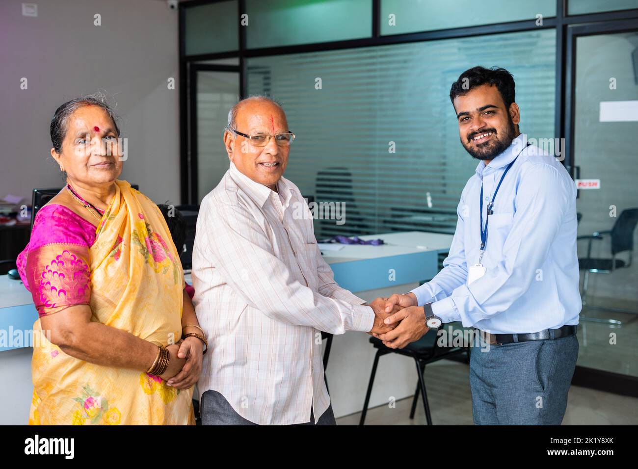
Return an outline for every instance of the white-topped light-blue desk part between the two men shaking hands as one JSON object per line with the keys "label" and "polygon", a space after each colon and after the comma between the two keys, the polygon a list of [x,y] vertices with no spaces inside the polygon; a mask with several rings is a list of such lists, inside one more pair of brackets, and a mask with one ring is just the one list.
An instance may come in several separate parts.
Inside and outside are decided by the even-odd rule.
{"label": "white-topped light-blue desk part between the two men shaking hands", "polygon": [[[447,253],[452,235],[394,232],[361,236],[383,239],[386,244],[345,244],[339,251],[324,250],[323,258],[343,288],[367,302],[393,293],[406,293],[438,272],[438,255]],[[370,336],[346,332],[334,336],[326,376],[335,417],[360,412],[375,359]],[[397,354],[379,361],[369,407],[387,405],[390,398],[413,396],[417,371],[412,359]]]}

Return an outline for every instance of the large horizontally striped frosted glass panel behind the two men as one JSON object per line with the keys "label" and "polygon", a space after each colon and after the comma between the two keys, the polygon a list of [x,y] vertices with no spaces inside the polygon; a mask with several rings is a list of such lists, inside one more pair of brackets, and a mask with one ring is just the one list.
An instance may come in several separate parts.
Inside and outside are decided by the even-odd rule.
{"label": "large horizontally striped frosted glass panel behind the two men", "polygon": [[[459,142],[450,86],[477,64],[514,73],[521,131],[554,137],[553,29],[248,59],[248,92],[283,102],[297,139],[286,177],[346,204],[316,235],[454,232],[478,161]],[[316,89],[316,78],[322,78]],[[396,153],[390,153],[394,142]]]}

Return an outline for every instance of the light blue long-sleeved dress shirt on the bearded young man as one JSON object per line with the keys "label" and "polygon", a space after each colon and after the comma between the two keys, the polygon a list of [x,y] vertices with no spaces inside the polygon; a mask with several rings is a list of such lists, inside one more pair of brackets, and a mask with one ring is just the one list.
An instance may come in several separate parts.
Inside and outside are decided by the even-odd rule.
{"label": "light blue long-sleeved dress shirt on the bearded young man", "polygon": [[[419,306],[443,322],[461,321],[492,334],[524,334],[578,324],[581,311],[576,254],[576,187],[559,161],[521,134],[489,165],[480,161],[457,207],[458,220],[443,269],[412,290]],[[521,151],[522,150],[522,151]],[[482,259],[486,273],[466,284],[479,262],[479,198],[494,200]]]}

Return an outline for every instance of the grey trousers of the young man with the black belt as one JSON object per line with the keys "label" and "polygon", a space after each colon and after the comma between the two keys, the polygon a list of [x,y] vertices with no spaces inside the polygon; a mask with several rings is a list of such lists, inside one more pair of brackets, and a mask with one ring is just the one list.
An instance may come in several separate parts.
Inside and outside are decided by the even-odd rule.
{"label": "grey trousers of the young man with the black belt", "polygon": [[472,414],[477,425],[560,425],[578,357],[578,339],[474,346]]}

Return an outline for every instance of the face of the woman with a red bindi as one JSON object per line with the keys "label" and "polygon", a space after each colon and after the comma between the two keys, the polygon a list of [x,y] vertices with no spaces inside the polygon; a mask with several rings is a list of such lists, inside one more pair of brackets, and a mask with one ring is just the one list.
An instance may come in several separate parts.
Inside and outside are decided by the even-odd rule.
{"label": "face of the woman with a red bindi", "polygon": [[52,148],[51,156],[71,185],[110,186],[122,172],[117,137],[105,110],[83,106],[68,117],[61,153]]}

